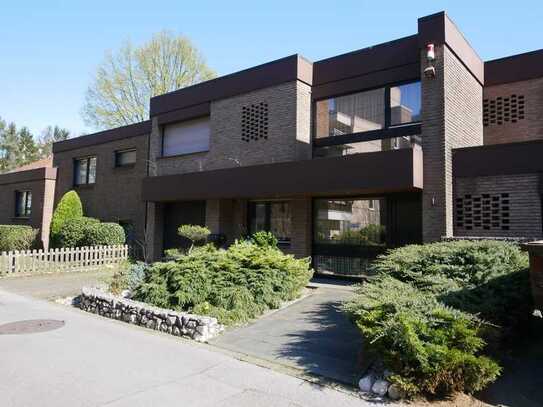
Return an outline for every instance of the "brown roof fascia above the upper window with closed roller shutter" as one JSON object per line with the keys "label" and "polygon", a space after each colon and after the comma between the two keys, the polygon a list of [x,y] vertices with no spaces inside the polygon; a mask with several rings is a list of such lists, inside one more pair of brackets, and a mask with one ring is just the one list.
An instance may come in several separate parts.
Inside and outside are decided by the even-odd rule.
{"label": "brown roof fascia above the upper window with closed roller shutter", "polygon": [[151,99],[151,117],[299,80],[311,85],[312,63],[295,54]]}

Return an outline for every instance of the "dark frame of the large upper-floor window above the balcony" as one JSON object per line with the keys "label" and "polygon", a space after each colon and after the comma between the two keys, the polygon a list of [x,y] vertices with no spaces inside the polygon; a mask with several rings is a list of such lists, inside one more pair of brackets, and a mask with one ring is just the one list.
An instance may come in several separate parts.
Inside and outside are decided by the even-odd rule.
{"label": "dark frame of the large upper-floor window above the balcony", "polygon": [[[374,140],[383,140],[388,138],[396,138],[402,136],[416,136],[420,135],[422,132],[422,121],[414,121],[410,123],[401,123],[401,124],[391,124],[392,123],[392,109],[390,107],[390,89],[402,85],[409,85],[412,83],[421,82],[420,78],[409,79],[400,82],[394,82],[383,86],[377,86],[373,88],[365,88],[347,93],[334,94],[326,96],[319,99],[314,99],[311,104],[312,109],[312,123],[311,132],[312,132],[312,141],[314,147],[328,147],[335,146],[340,144],[352,144],[357,142],[364,141],[374,141]],[[357,133],[343,134],[339,136],[328,136],[317,138],[317,109],[316,104],[323,100],[338,98],[342,96],[355,95],[357,93],[370,92],[376,89],[384,89],[384,106],[385,106],[385,124],[382,129],[378,130],[369,130]],[[421,104],[422,104],[422,94],[421,94]]]}

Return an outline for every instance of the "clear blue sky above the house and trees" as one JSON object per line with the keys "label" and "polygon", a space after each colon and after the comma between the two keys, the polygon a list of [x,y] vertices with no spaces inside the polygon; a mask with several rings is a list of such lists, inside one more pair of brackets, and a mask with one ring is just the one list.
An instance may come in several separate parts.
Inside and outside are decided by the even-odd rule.
{"label": "clear blue sky above the house and trees", "polygon": [[108,49],[155,32],[190,37],[219,74],[293,53],[319,60],[417,31],[446,10],[485,59],[543,48],[543,1],[28,0],[0,6],[0,117],[92,132],[84,94]]}

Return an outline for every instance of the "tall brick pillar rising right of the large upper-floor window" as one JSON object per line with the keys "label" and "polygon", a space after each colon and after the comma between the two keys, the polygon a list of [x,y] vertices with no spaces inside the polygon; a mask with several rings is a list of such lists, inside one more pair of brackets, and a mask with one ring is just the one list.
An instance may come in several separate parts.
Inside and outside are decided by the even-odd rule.
{"label": "tall brick pillar rising right of the large upper-floor window", "polygon": [[[422,84],[422,148],[424,154],[422,196],[423,241],[440,240],[453,235],[452,149],[483,144],[482,85],[453,52],[446,39],[463,47],[451,32],[456,27],[442,13],[419,20]],[[435,46],[435,77],[424,69],[426,44]],[[470,60],[474,71],[482,61]]]}

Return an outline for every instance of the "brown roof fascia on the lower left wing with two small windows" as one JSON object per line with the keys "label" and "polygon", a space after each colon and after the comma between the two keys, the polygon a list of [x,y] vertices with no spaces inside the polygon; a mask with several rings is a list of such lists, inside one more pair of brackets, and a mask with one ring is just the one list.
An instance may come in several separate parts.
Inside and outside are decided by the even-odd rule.
{"label": "brown roof fascia on the lower left wing with two small windows", "polygon": [[109,143],[111,141],[122,140],[125,138],[142,136],[150,133],[151,122],[147,120],[136,124],[130,124],[128,126],[117,127],[111,130],[87,134],[86,136],[58,141],[53,144],[53,154],[94,146],[97,144]]}

